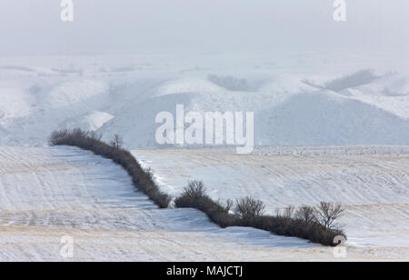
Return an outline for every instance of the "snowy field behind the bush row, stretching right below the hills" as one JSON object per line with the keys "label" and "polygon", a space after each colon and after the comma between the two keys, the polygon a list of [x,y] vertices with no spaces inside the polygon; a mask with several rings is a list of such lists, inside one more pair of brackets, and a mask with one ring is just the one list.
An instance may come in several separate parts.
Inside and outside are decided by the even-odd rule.
{"label": "snowy field behind the bush row, stretching right below the hills", "polygon": [[260,155],[217,148],[133,153],[174,196],[195,179],[216,200],[261,199],[269,214],[287,205],[339,202],[346,207],[340,223],[348,245],[409,248],[407,147],[283,147],[276,155],[279,150],[258,148]]}

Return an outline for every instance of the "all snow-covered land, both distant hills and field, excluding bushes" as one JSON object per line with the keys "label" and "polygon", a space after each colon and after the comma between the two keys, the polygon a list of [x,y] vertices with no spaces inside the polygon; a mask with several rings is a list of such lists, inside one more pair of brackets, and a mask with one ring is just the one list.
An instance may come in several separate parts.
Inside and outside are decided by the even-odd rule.
{"label": "all snow-covered land, both distant hills and field, excluding bushes", "polygon": [[[269,213],[342,202],[346,260],[409,259],[409,65],[386,67],[382,56],[202,58],[1,57],[0,259],[60,260],[70,235],[75,260],[337,260],[332,248],[156,209],[119,166],[47,147],[52,131],[74,127],[105,141],[122,135],[171,195],[201,179],[214,198],[253,195]],[[165,150],[155,116],[178,104],[254,112],[254,153]]]}

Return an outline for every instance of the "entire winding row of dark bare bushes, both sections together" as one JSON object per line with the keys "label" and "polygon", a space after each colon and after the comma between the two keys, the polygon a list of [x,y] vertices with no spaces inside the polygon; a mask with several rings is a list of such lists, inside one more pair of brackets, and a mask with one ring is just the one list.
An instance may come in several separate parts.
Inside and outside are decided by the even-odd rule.
{"label": "entire winding row of dark bare bushes, both sections together", "polygon": [[[132,177],[135,187],[147,195],[156,205],[167,208],[171,197],[162,193],[153,180],[150,171],[145,171],[130,152],[122,148],[122,139],[115,135],[110,145],[101,141],[101,136],[81,129],[55,131],[49,138],[49,145],[73,145],[102,155],[125,168]],[[264,205],[251,197],[225,204],[215,202],[205,194],[202,182],[193,181],[185,187],[184,193],[175,199],[178,208],[195,208],[205,213],[214,224],[223,228],[228,226],[249,226],[269,231],[275,235],[294,236],[322,245],[335,245],[335,236],[344,235],[334,228],[334,220],[341,215],[339,205],[322,203],[318,209],[303,206],[296,212],[288,207],[284,215],[263,215]]]}

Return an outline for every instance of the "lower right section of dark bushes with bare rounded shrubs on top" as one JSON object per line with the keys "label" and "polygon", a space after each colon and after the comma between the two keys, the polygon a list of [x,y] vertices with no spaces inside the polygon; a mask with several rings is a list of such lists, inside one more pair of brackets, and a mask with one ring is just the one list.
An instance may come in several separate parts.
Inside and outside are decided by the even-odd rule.
{"label": "lower right section of dark bushes with bare rounded shrubs on top", "polygon": [[[209,219],[221,227],[227,226],[249,226],[261,230],[269,231],[275,235],[293,236],[310,240],[313,243],[321,245],[334,244],[335,236],[346,236],[340,229],[333,228],[332,224],[324,224],[318,217],[321,211],[322,203],[318,209],[310,206],[303,206],[293,214],[294,208],[288,207],[284,215],[262,215],[264,205],[251,197],[245,197],[236,202],[234,214],[231,214],[233,207],[232,201],[226,204],[215,202],[208,195],[205,195],[205,187],[202,182],[193,181],[185,188],[184,193],[175,199],[176,207],[196,208],[209,217]],[[329,205],[331,209],[337,209],[338,205]],[[330,209],[330,210],[331,210]],[[329,218],[336,219],[342,212],[329,211]],[[331,216],[332,215],[332,216]]]}

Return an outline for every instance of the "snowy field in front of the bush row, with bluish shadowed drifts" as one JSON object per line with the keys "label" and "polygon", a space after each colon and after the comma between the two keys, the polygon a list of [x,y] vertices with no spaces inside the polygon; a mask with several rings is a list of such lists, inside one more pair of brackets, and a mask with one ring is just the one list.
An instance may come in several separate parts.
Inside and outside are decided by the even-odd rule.
{"label": "snowy field in front of the bush row, with bluish shadowed drifts", "polygon": [[[338,260],[333,249],[193,209],[160,210],[111,161],[71,147],[0,147],[1,261]],[[74,258],[60,255],[74,238]],[[403,260],[403,248],[350,247],[345,260]]]}

